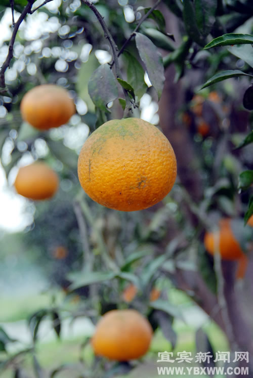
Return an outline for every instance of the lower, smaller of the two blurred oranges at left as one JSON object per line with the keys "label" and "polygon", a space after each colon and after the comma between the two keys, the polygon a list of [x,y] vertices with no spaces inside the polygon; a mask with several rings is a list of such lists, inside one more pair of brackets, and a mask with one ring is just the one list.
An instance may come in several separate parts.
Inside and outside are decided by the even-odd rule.
{"label": "lower, smaller of the two blurred oranges at left", "polygon": [[14,183],[17,192],[30,199],[51,198],[58,185],[57,174],[43,162],[21,167]]}

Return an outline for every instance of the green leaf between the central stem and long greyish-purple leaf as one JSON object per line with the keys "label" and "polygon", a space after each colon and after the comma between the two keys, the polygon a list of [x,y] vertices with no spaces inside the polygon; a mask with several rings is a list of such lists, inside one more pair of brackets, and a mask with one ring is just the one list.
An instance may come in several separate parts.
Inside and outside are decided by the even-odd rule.
{"label": "green leaf between the central stem and long greyish-purple leaf", "polygon": [[128,51],[124,52],[124,58],[126,60],[125,66],[127,67],[126,75],[128,82],[134,88],[135,95],[140,100],[148,88],[144,81],[145,71],[138,60]]}

